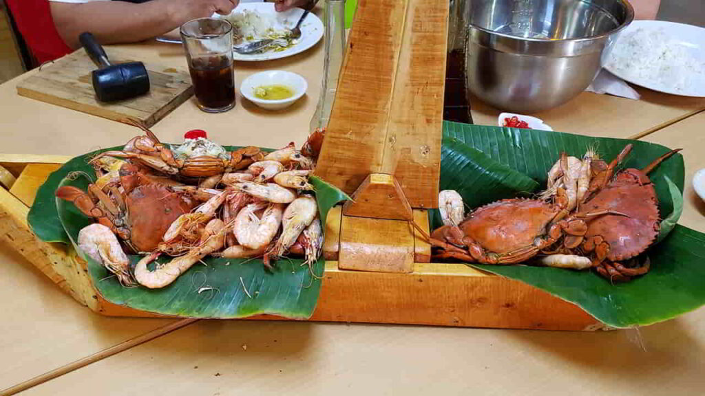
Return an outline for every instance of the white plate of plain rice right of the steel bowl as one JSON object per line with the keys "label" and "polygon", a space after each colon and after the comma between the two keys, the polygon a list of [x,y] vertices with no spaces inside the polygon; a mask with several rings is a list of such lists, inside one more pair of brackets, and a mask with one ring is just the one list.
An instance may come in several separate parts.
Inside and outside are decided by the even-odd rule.
{"label": "white plate of plain rice right of the steel bowl", "polygon": [[[618,59],[619,54],[630,53],[629,46],[626,44],[627,38],[639,29],[653,37],[668,37],[673,40],[669,48],[690,54],[694,58],[694,64],[690,68],[685,68],[682,64],[674,62],[673,57],[667,57],[663,61],[663,66],[673,70],[673,78],[661,80],[639,75],[635,65],[651,67],[651,72],[656,73],[658,63],[646,61],[646,55],[639,57],[638,53],[631,58],[634,64]],[[705,29],[661,20],[635,20],[615,39],[611,53],[605,59],[604,68],[627,82],[654,91],[685,97],[705,97]]]}

